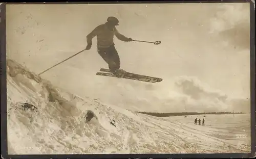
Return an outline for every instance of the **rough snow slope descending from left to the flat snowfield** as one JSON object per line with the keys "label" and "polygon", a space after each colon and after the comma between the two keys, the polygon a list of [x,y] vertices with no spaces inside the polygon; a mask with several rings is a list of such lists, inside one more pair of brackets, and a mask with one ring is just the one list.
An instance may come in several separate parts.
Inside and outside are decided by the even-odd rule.
{"label": "rough snow slope descending from left to the flat snowfield", "polygon": [[[250,151],[250,115],[153,117],[81,98],[7,60],[8,153],[231,153]],[[20,103],[36,109],[22,109]],[[86,114],[95,117],[86,122]],[[202,119],[201,119],[202,120]]]}

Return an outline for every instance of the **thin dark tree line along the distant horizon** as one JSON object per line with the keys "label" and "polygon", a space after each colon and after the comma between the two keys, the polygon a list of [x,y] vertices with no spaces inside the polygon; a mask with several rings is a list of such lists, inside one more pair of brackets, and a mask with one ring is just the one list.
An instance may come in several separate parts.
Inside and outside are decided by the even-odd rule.
{"label": "thin dark tree line along the distant horizon", "polygon": [[156,112],[136,112],[141,114],[152,115],[156,117],[170,117],[170,116],[184,116],[184,115],[204,115],[204,114],[244,114],[242,112],[207,112],[207,113],[198,113],[198,112],[181,112],[181,113],[156,113]]}

